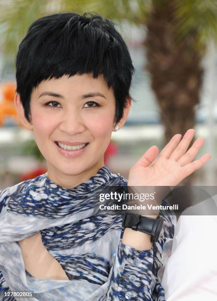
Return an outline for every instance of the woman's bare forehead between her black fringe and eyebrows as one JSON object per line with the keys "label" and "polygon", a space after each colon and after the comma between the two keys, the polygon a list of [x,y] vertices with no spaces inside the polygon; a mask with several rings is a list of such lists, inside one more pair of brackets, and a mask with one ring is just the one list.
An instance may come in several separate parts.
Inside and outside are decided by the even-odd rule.
{"label": "woman's bare forehead between her black fringe and eyebrows", "polygon": [[81,94],[84,92],[101,92],[107,96],[114,96],[113,90],[109,89],[103,75],[93,78],[92,74],[74,75],[68,77],[63,75],[59,79],[52,78],[42,81],[32,94],[39,94],[43,91],[52,90],[60,94]]}

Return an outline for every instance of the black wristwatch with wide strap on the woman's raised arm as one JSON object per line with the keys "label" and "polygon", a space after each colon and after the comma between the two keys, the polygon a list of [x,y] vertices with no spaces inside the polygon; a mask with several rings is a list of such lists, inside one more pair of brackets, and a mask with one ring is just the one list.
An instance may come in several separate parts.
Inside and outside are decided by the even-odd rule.
{"label": "black wristwatch with wide strap on the woman's raised arm", "polygon": [[157,218],[151,218],[127,212],[124,215],[122,227],[150,234],[151,241],[155,242],[158,240],[163,227],[163,217],[158,215]]}

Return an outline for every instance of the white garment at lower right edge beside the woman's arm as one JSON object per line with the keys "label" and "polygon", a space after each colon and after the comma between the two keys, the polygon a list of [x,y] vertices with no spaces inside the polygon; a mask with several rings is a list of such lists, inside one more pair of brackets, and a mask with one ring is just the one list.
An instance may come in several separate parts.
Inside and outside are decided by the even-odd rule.
{"label": "white garment at lower right edge beside the woman's arm", "polygon": [[162,278],[166,301],[216,301],[217,215],[183,214]]}

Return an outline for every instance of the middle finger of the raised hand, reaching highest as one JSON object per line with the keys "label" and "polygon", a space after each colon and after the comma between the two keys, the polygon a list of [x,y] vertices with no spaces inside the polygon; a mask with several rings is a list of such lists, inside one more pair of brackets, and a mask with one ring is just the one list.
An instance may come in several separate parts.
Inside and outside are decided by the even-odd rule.
{"label": "middle finger of the raised hand, reaching highest", "polygon": [[191,140],[193,139],[194,132],[195,132],[195,130],[192,128],[189,129],[188,131],[186,131],[183,139],[180,141],[177,148],[171,154],[170,159],[178,161],[186,153],[186,150],[187,150]]}

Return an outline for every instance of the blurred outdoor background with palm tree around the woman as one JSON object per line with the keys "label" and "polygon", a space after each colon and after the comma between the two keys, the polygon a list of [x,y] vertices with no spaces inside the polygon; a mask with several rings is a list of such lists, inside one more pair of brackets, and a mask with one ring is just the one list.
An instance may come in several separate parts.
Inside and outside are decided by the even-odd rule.
{"label": "blurred outdoor background with palm tree around the woman", "polygon": [[96,12],[113,20],[126,41],[136,100],[124,127],[113,133],[105,164],[128,176],[152,145],[195,128],[211,160],[187,181],[216,185],[216,0],[0,0],[0,189],[46,172],[32,132],[14,108],[15,57],[31,23],[57,12]]}

